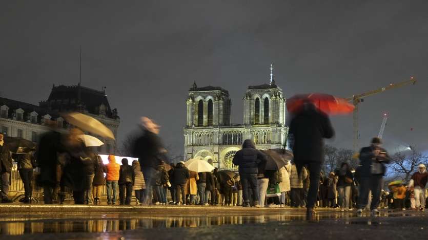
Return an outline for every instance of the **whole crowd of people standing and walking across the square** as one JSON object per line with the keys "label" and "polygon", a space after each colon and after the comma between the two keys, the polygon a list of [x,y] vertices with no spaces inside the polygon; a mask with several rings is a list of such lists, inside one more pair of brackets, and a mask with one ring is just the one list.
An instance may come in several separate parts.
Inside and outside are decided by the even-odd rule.
{"label": "whole crowd of people standing and walking across the square", "polygon": [[[33,169],[40,168],[37,184],[43,187],[44,203],[63,203],[67,192],[75,204],[103,204],[101,192],[107,189],[107,204],[130,205],[212,205],[242,207],[337,207],[342,211],[379,207],[413,208],[424,210],[425,185],[428,180],[422,164],[412,180],[405,185],[391,187],[392,194],[382,190],[385,164],[391,161],[381,140],[373,138],[371,145],[361,149],[360,164],[352,169],[347,162],[332,172],[322,172],[323,138],[332,138],[334,130],[327,115],[316,111],[312,104],[293,117],[290,124],[291,147],[294,159],[279,169],[268,168],[268,156],[257,150],[253,142],[244,140],[236,152],[233,164],[238,173],[225,174],[215,168],[211,172],[189,170],[185,162],[169,164],[165,148],[158,137],[159,126],[143,117],[142,134],[132,146],[133,157],[117,163],[115,156],[109,163],[86,147],[78,137],[83,132],[70,129],[68,134],[52,130],[40,138],[37,152],[13,156],[24,183],[24,203],[32,200]],[[0,134],[2,172],[2,202],[8,199],[8,185],[12,155]],[[118,196],[117,196],[118,192]]]}

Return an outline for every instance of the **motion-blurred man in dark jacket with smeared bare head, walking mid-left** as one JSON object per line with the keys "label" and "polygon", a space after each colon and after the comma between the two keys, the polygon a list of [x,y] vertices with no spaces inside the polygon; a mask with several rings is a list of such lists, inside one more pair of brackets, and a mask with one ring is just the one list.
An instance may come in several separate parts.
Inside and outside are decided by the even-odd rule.
{"label": "motion-blurred man in dark jacket with smeared bare head, walking mid-left", "polygon": [[162,156],[166,150],[162,147],[158,136],[160,126],[147,117],[142,117],[141,122],[145,127],[144,134],[135,140],[132,154],[138,158],[146,182],[144,202],[151,204],[152,188],[158,176],[157,166],[161,165]]}

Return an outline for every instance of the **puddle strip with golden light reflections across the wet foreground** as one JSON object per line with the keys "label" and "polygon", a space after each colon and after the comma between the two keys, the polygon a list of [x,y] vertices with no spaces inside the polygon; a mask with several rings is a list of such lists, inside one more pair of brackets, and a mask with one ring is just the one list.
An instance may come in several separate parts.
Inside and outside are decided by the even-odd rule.
{"label": "puddle strip with golden light reflections across the wet foreground", "polygon": [[[245,213],[243,213],[245,214]],[[383,212],[381,216],[411,216],[409,213]],[[381,225],[367,218],[357,219],[353,212],[319,212],[312,221],[343,220],[343,224]],[[141,216],[134,213],[109,214],[5,214],[0,220],[1,235],[31,233],[109,233],[150,228],[209,227],[220,225],[263,224],[281,222],[289,225],[305,221],[303,211],[283,211],[260,215],[209,215],[209,216]],[[337,221],[338,222],[338,221]]]}

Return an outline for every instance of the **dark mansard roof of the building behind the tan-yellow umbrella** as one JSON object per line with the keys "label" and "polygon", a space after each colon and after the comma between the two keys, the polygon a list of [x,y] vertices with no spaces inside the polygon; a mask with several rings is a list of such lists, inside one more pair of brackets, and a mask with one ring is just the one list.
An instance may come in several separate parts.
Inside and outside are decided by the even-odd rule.
{"label": "dark mansard roof of the building behind the tan-yellow umbrella", "polygon": [[105,106],[106,116],[116,118],[105,92],[86,88],[81,85],[53,86],[48,100],[40,102],[40,106],[57,112],[79,111],[82,107],[91,114],[100,114],[100,106]]}

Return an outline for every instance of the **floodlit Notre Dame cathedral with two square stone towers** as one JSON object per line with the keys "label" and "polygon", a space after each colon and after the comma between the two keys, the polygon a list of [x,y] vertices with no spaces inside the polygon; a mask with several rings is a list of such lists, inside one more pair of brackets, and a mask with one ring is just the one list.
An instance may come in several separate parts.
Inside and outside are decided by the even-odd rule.
{"label": "floodlit Notre Dame cathedral with two square stone towers", "polygon": [[185,158],[201,157],[218,168],[235,168],[233,156],[243,140],[251,139],[257,149],[281,148],[287,139],[286,98],[275,84],[249,86],[243,96],[243,124],[231,124],[232,102],[228,91],[216,86],[198,88],[196,82],[187,98],[184,127]]}

